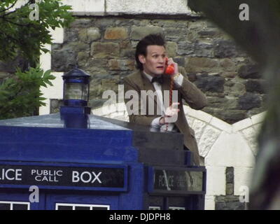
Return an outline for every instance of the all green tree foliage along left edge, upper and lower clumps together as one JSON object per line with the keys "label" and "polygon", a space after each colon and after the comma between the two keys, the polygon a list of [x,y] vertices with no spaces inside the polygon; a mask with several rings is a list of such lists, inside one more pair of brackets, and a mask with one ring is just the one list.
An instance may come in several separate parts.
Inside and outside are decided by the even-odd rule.
{"label": "all green tree foliage along left edge, upper and lower clumps together", "polygon": [[[25,72],[18,69],[15,78],[0,85],[0,119],[31,116],[45,105],[40,87],[52,85],[50,80],[55,76],[50,71],[44,73],[36,64],[41,52],[48,52],[44,45],[52,43],[50,30],[68,27],[73,22],[71,6],[64,6],[61,1],[21,1],[19,8],[14,7],[20,3],[18,0],[0,1],[0,61],[8,62],[20,55],[35,66]],[[31,3],[36,3],[38,10]],[[35,10],[38,20],[34,18]]]}

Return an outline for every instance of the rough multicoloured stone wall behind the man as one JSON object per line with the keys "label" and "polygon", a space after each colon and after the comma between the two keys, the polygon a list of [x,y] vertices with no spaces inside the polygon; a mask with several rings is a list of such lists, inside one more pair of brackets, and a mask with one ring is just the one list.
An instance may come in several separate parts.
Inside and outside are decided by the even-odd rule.
{"label": "rough multicoloured stone wall behind the man", "polygon": [[258,66],[203,18],[77,18],[64,30],[64,42],[52,45],[52,71],[69,71],[78,64],[92,75],[91,106],[100,106],[102,93],[118,92],[123,78],[134,71],[135,46],[151,33],[165,35],[169,57],[207,95],[209,106],[203,111],[232,124],[265,110],[265,82]]}

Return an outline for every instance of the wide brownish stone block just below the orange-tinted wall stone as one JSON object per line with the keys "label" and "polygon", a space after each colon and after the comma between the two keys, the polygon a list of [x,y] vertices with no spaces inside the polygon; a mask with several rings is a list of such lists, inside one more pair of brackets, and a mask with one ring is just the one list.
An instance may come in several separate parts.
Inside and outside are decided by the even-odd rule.
{"label": "wide brownish stone block just below the orange-tinted wall stone", "polygon": [[111,42],[93,42],[90,54],[94,58],[112,58],[118,57],[120,54],[120,46],[118,43]]}

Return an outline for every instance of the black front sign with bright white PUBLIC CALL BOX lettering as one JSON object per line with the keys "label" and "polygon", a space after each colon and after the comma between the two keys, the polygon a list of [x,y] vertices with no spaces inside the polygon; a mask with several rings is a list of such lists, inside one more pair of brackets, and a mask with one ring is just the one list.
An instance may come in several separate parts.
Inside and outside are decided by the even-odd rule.
{"label": "black front sign with bright white PUBLIC CALL BOX lettering", "polygon": [[127,166],[0,163],[0,188],[24,186],[126,191]]}

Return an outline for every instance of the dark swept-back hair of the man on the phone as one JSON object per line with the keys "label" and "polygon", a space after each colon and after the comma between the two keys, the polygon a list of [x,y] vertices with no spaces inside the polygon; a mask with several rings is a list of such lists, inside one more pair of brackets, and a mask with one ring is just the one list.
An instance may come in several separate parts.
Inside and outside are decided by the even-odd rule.
{"label": "dark swept-back hair of the man on the phone", "polygon": [[135,59],[137,62],[137,69],[143,70],[143,64],[139,61],[139,55],[147,55],[147,47],[148,45],[159,45],[165,47],[165,38],[162,34],[150,34],[145,36],[144,38],[137,43],[136,52],[135,52]]}

